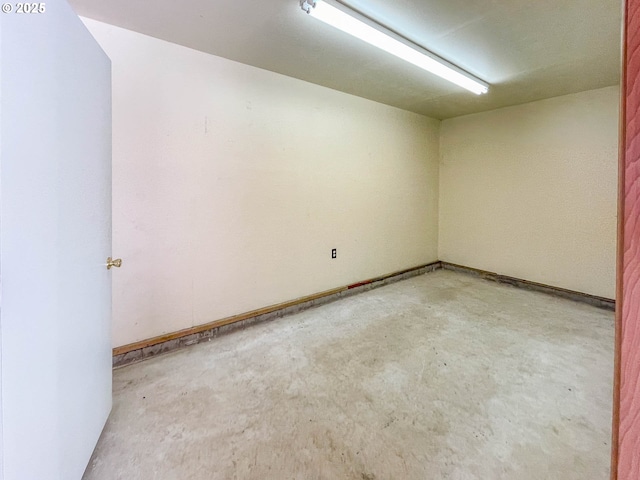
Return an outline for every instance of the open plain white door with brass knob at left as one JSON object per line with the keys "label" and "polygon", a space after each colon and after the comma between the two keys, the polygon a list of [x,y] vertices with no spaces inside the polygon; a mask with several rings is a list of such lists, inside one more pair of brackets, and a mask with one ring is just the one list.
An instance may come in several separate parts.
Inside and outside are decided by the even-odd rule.
{"label": "open plain white door with brass knob at left", "polygon": [[111,409],[111,64],[66,1],[46,0],[42,13],[8,4],[2,471],[4,480],[79,480]]}

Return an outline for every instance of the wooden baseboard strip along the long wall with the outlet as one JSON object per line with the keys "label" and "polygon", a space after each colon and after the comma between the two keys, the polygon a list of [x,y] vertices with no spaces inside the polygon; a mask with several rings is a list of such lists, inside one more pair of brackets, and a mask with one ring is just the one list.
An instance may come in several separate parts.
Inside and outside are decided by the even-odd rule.
{"label": "wooden baseboard strip along the long wall with the outlet", "polygon": [[309,308],[333,302],[340,298],[365,292],[373,288],[399,282],[407,278],[423,275],[441,268],[440,262],[409,268],[388,275],[372,278],[352,285],[334,288],[325,292],[308,295],[289,302],[271,305],[250,312],[216,320],[204,325],[186,328],[166,335],[160,335],[140,342],[113,349],[113,366],[122,367],[131,363],[171,352],[182,347],[211,340],[223,333],[245,328],[249,325],[273,320],[285,315],[298,313]]}

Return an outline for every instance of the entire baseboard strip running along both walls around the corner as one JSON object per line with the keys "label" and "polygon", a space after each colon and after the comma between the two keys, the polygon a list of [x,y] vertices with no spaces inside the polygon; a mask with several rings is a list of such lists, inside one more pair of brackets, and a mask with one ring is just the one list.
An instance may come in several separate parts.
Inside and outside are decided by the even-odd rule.
{"label": "entire baseboard strip running along both walls around the corner", "polygon": [[530,282],[519,278],[500,275],[498,273],[478,270],[471,267],[455,265],[453,263],[437,261],[427,265],[402,270],[399,272],[383,275],[352,285],[327,290],[325,292],[316,293],[298,298],[289,302],[279,303],[269,307],[253,310],[239,315],[216,320],[196,327],[179,330],[177,332],[153,337],[140,342],[123,345],[113,349],[113,367],[123,367],[132,363],[136,363],[151,357],[155,357],[162,353],[168,353],[179,348],[196,345],[198,343],[210,341],[219,335],[229,333],[233,330],[245,328],[255,323],[266,322],[286,315],[307,310],[312,307],[324,305],[336,301],[340,298],[349,297],[358,293],[366,292],[374,288],[382,287],[390,283],[399,282],[408,278],[424,275],[436,270],[451,270],[455,272],[474,275],[485,280],[512,285],[514,287],[523,288],[531,291],[542,292],[556,297],[562,297],[569,300],[587,303],[589,305],[604,308],[607,310],[615,310],[615,300],[608,298],[589,295],[586,293],[575,292],[540,283]]}

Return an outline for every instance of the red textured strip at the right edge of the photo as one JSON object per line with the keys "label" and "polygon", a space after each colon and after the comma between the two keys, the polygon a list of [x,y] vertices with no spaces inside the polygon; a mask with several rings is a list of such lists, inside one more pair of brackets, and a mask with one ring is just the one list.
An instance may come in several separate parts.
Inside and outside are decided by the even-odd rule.
{"label": "red textured strip at the right edge of the photo", "polygon": [[[626,2],[618,294],[618,480],[640,479],[640,0]],[[616,420],[614,418],[614,420]],[[614,424],[614,429],[616,425]],[[615,454],[615,451],[614,451]],[[615,469],[615,459],[614,459]],[[614,473],[615,477],[615,473]]]}

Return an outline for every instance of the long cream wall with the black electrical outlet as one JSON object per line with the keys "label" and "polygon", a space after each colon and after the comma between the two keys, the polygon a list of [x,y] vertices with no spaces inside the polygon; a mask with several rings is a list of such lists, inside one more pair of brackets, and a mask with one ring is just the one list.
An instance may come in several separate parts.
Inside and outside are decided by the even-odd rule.
{"label": "long cream wall with the black electrical outlet", "polygon": [[437,260],[439,121],[85,23],[113,68],[115,346]]}

